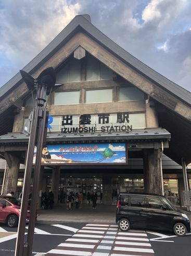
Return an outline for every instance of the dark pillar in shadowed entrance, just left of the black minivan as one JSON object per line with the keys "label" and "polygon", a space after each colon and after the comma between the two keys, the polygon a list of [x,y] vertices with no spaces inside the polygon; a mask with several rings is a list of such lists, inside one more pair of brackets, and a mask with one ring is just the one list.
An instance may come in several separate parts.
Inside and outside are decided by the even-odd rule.
{"label": "dark pillar in shadowed entrance, just left of the black minivan", "polygon": [[102,193],[102,203],[112,204],[112,178],[107,175],[103,175],[103,193]]}

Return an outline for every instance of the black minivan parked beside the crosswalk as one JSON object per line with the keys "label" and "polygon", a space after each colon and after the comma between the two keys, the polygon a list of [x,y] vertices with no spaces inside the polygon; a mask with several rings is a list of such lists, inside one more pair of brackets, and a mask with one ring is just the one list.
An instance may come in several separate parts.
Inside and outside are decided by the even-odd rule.
{"label": "black minivan parked beside the crosswalk", "polygon": [[147,228],[174,231],[176,236],[190,232],[189,218],[177,210],[163,195],[147,193],[120,193],[116,223],[121,231]]}

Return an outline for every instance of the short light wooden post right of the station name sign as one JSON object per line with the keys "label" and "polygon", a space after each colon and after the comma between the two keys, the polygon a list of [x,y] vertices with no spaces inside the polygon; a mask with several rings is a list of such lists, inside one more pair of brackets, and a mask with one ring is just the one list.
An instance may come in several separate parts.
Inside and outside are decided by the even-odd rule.
{"label": "short light wooden post right of the station name sign", "polygon": [[158,114],[154,102],[146,100],[146,127],[159,127]]}

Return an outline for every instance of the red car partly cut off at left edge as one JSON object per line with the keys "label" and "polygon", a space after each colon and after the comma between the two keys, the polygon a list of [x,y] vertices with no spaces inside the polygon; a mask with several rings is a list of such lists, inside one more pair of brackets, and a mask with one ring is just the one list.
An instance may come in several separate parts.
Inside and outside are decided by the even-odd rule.
{"label": "red car partly cut off at left edge", "polygon": [[[0,196],[0,223],[6,223],[8,227],[18,226],[21,201],[9,195]],[[30,208],[27,211],[26,223],[29,223]]]}

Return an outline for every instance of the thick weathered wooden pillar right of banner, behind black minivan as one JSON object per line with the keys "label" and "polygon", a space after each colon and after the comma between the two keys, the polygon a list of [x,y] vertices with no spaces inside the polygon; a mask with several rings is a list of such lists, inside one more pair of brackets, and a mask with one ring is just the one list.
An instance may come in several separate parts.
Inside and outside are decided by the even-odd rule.
{"label": "thick weathered wooden pillar right of banner, behind black minivan", "polygon": [[146,193],[162,194],[160,149],[143,149],[144,187]]}

